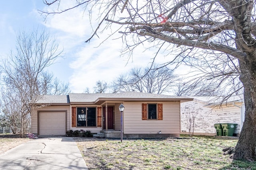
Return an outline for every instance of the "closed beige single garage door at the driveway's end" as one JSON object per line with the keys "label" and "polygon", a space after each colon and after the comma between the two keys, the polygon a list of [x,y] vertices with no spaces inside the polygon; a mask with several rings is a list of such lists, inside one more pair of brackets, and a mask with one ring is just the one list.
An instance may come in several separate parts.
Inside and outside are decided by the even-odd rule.
{"label": "closed beige single garage door at the driveway's end", "polygon": [[66,112],[39,112],[39,135],[65,135]]}

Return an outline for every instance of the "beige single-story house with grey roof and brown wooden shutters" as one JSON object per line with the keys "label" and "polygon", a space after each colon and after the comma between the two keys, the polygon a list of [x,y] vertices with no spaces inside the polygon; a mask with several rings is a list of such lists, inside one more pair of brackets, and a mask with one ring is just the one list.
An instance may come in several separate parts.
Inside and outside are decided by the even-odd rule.
{"label": "beige single-story house with grey roof and brown wooden shutters", "polygon": [[36,135],[65,135],[70,129],[83,129],[120,137],[118,107],[123,104],[124,137],[179,137],[180,103],[192,100],[140,92],[46,95],[36,102],[31,128]]}

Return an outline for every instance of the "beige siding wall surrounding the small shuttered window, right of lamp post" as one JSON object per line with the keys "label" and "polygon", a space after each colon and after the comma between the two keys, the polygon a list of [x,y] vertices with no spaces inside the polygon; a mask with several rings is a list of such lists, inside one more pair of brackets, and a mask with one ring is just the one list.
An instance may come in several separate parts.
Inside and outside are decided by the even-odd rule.
{"label": "beige siding wall surrounding the small shuttered window, right of lamp post", "polygon": [[[142,120],[142,103],[162,103],[163,120]],[[180,102],[125,102],[124,134],[180,134]]]}

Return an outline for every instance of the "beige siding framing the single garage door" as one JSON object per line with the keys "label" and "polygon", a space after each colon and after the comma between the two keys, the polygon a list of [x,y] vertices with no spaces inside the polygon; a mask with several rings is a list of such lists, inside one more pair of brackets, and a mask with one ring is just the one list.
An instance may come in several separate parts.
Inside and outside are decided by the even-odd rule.
{"label": "beige siding framing the single garage door", "polygon": [[31,117],[32,133],[38,134],[38,111],[67,111],[67,130],[70,130],[70,106],[46,106],[35,109]]}

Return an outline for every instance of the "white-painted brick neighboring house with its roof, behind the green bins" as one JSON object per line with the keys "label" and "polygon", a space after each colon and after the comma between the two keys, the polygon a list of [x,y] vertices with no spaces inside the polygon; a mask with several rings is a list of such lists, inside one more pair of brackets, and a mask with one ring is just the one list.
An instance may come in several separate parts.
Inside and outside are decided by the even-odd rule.
{"label": "white-painted brick neighboring house with its roof, behind the green bins", "polygon": [[[232,96],[222,102],[218,96],[190,96],[193,101],[182,103],[181,133],[188,134],[189,118],[194,116],[194,135],[216,135],[214,124],[237,124],[234,133],[240,134],[244,123],[244,100],[242,96]],[[191,130],[192,131],[192,130]]]}

